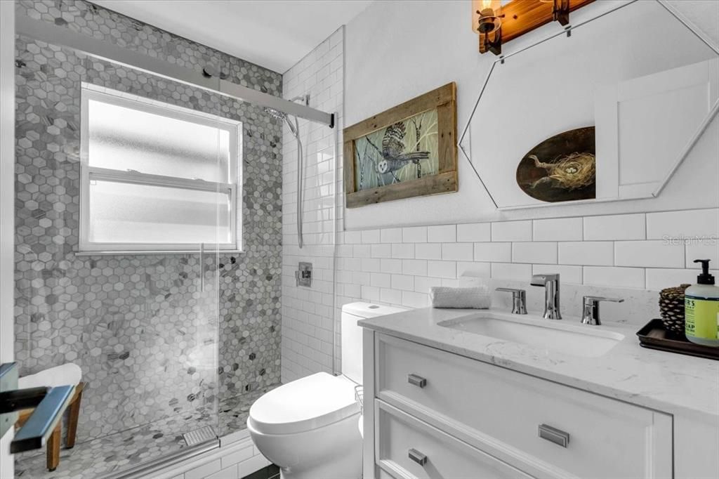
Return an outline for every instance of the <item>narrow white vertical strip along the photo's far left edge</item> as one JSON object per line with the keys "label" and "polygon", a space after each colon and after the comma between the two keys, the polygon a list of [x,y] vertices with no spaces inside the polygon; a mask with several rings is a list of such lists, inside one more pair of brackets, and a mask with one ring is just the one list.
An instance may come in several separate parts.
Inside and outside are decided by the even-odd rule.
{"label": "narrow white vertical strip along the photo's far left edge", "polygon": [[[14,165],[15,165],[15,5],[0,1],[0,362],[13,352]],[[0,439],[0,478],[12,478],[12,429]]]}

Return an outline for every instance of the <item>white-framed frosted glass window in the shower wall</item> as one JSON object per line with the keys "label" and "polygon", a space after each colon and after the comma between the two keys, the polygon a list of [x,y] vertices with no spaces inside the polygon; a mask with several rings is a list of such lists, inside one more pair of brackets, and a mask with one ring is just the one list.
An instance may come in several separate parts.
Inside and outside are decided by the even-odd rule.
{"label": "white-framed frosted glass window in the shower wall", "polygon": [[239,122],[83,85],[81,124],[81,250],[239,249]]}

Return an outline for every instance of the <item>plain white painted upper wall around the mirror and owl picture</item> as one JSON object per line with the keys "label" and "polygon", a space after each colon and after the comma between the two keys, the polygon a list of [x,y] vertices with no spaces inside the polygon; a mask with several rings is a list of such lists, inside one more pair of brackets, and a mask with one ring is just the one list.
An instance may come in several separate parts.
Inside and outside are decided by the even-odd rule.
{"label": "plain white painted upper wall around the mirror and owl picture", "polygon": [[[581,17],[593,16],[617,4],[616,1],[595,2],[572,13],[572,19],[577,22]],[[674,4],[717,41],[718,2],[677,1]],[[557,28],[558,24],[541,27],[504,45],[503,50],[510,53]],[[455,81],[461,133],[493,60],[493,55],[477,52],[477,37],[470,29],[470,1],[421,1],[413,2],[411,7],[403,1],[377,1],[347,24],[346,124],[354,124]],[[503,125],[497,128],[501,135]],[[514,130],[509,131],[516,134]],[[718,131],[719,120],[715,119],[658,199],[498,212],[460,154],[459,192],[350,209],[346,226],[362,229],[441,224],[448,219],[460,223],[714,207],[719,204],[719,191],[715,187],[719,175],[715,161],[719,154]],[[687,188],[700,193],[688,194]]]}

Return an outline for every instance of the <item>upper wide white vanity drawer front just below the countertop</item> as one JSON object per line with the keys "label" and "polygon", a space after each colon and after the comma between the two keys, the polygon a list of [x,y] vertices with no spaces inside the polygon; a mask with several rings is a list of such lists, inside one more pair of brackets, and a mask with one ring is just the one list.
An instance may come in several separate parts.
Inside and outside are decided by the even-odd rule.
{"label": "upper wide white vanity drawer front just below the countertop", "polygon": [[672,476],[667,414],[384,334],[375,362],[378,398],[533,476]]}

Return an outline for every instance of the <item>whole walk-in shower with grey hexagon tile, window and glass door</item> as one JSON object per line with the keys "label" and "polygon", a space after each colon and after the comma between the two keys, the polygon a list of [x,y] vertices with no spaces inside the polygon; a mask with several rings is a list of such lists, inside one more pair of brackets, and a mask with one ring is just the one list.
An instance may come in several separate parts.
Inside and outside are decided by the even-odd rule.
{"label": "whole walk-in shower with grey hexagon tile, window and glass door", "polygon": [[75,447],[53,472],[18,454],[16,475],[217,447],[280,383],[284,119],[331,116],[281,100],[280,73],[86,1],[16,14],[15,355],[84,384]]}

